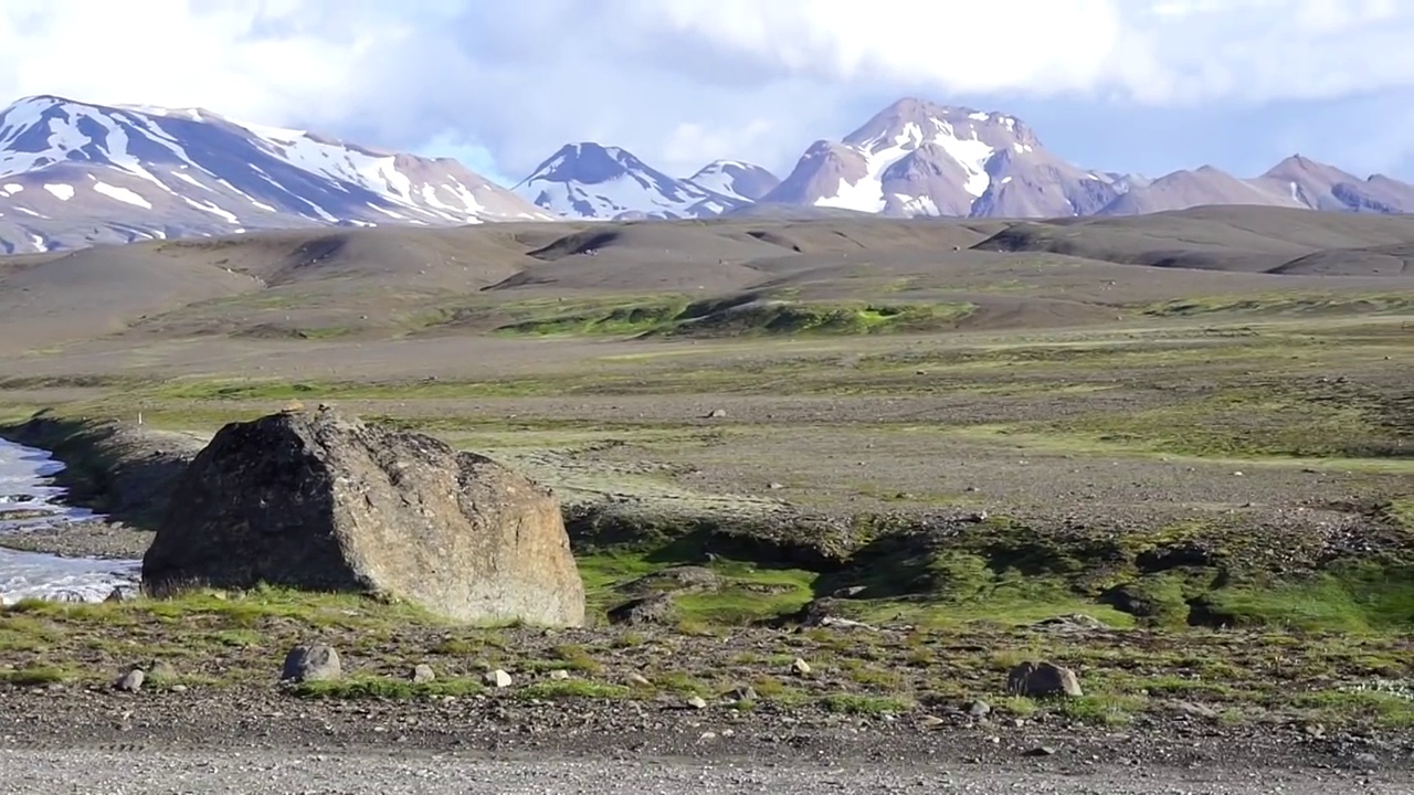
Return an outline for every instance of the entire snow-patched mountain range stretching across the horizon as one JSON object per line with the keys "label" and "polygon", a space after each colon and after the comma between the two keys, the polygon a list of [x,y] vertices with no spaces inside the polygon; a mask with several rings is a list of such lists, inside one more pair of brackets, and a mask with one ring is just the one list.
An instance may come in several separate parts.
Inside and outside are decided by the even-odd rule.
{"label": "entire snow-patched mountain range stretching across the horizon", "polygon": [[192,108],[30,96],[0,112],[0,252],[332,225],[795,216],[1063,218],[1199,205],[1414,209],[1414,185],[1291,156],[1240,178],[1087,170],[1000,112],[905,98],[783,178],[740,160],[687,177],[601,143],[561,147],[510,188],[450,158],[239,122]]}

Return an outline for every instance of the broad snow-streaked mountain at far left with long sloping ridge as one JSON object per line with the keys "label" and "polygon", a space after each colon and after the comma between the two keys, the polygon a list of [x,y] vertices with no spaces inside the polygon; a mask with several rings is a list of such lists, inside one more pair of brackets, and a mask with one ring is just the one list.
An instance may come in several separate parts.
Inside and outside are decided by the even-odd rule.
{"label": "broad snow-streaked mountain at far left with long sloping ridge", "polygon": [[31,96],[0,112],[0,250],[314,225],[551,216],[455,160],[204,109]]}

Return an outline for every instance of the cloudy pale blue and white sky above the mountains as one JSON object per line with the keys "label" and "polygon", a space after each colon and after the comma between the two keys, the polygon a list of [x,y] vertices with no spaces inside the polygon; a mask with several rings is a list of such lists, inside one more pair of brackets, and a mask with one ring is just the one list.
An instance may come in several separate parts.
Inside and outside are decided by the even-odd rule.
{"label": "cloudy pale blue and white sky above the mountains", "polygon": [[[199,106],[457,157],[560,146],[785,177],[904,96],[1022,119],[1086,168],[1414,181],[1414,0],[4,0],[0,102]],[[871,8],[882,8],[871,16]]]}

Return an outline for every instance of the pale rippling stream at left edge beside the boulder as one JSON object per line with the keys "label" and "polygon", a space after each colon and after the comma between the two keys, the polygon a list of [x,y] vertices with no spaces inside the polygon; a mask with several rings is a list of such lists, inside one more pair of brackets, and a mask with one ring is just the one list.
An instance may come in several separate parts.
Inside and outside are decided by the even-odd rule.
{"label": "pale rippling stream at left edge beside the boulder", "polygon": [[[0,536],[102,516],[61,502],[54,474],[64,470],[44,450],[0,439]],[[113,588],[137,587],[141,562],[59,557],[0,547],[0,604],[21,598],[102,601]]]}

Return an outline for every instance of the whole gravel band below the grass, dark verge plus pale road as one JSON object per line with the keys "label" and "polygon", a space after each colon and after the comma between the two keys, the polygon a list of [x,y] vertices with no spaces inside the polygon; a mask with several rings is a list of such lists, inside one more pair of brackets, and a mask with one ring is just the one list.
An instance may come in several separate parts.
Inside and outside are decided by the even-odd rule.
{"label": "whole gravel band below the grass, dark verge plus pale road", "polygon": [[420,707],[0,692],[0,792],[1414,791],[1410,737]]}

